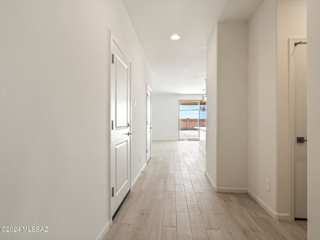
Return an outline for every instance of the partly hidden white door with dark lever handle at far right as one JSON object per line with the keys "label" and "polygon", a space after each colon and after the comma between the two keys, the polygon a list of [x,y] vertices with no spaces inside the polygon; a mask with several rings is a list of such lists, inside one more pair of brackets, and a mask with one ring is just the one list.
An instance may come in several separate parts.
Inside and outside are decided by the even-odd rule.
{"label": "partly hidden white door with dark lever handle at far right", "polygon": [[294,82],[295,82],[295,158],[294,158],[294,217],[307,218],[307,184],[306,184],[306,147],[307,141],[297,137],[306,135],[306,44],[297,44],[294,48]]}

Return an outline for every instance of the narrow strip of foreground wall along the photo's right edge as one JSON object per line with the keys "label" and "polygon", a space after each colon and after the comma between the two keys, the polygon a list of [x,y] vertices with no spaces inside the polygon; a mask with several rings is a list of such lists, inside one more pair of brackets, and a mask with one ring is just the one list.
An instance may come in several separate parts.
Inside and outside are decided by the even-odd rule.
{"label": "narrow strip of foreground wall along the photo's right edge", "polygon": [[320,236],[320,1],[307,1],[308,239]]}

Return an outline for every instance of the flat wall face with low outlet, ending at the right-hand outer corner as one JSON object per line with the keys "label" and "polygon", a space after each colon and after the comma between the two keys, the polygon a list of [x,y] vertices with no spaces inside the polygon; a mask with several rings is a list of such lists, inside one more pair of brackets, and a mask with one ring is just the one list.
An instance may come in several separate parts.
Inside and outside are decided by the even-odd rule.
{"label": "flat wall face with low outlet, ending at the right-hand outer corner", "polygon": [[[276,1],[249,20],[248,191],[276,209]],[[265,178],[270,191],[265,190]]]}

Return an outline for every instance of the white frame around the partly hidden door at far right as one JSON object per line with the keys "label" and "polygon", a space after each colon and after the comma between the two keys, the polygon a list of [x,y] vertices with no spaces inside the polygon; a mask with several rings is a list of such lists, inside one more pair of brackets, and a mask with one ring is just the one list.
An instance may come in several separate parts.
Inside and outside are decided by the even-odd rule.
{"label": "white frame around the partly hidden door at far right", "polygon": [[289,220],[294,221],[294,158],[295,158],[295,79],[294,79],[294,43],[307,41],[306,37],[290,37],[288,39],[288,152],[289,152]]}

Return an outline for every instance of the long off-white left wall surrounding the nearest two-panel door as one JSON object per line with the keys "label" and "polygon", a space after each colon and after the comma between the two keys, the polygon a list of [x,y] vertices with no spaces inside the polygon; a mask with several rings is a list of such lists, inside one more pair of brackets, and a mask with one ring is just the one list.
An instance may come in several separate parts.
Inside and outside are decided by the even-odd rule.
{"label": "long off-white left wall surrounding the nearest two-panel door", "polygon": [[132,178],[145,157],[151,73],[122,2],[0,1],[0,29],[0,225],[49,227],[0,238],[96,239],[110,220],[109,30],[132,61]]}

